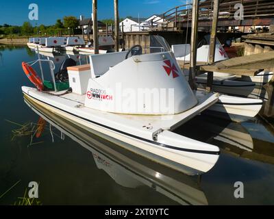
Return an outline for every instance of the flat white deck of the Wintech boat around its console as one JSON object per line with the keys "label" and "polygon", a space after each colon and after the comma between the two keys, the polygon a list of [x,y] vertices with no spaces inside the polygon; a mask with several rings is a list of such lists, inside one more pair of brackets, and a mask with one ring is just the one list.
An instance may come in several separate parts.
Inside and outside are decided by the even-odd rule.
{"label": "flat white deck of the Wintech boat around its console", "polygon": [[[34,98],[37,99],[45,99],[45,100],[51,100],[58,103],[64,103],[66,105],[73,105],[75,107],[79,107],[79,109],[82,110],[82,112],[86,112],[90,115],[97,115],[100,116],[102,112],[99,112],[98,110],[93,110],[88,107],[84,106],[86,95],[79,95],[75,93],[69,93],[64,94],[62,96],[56,96],[63,94],[64,91],[61,92],[39,92],[35,88],[26,88],[24,90],[28,90],[27,93],[31,94]],[[23,91],[24,91],[23,90]],[[26,91],[25,91],[26,92]],[[55,94],[49,96],[49,94]],[[142,127],[142,129],[147,129],[147,131],[155,131],[158,129],[163,130],[173,130],[179,125],[182,125],[183,123],[186,123],[188,120],[193,118],[194,116],[197,116],[203,110],[206,110],[208,107],[213,105],[219,100],[219,94],[214,94],[210,92],[206,92],[204,90],[197,90],[195,92],[198,104],[193,107],[191,110],[188,110],[186,112],[182,112],[180,114],[175,115],[149,115],[149,116],[142,116],[142,115],[129,115],[129,114],[114,114],[110,112],[103,112],[105,116],[112,116],[117,119],[117,121],[131,121],[134,123],[136,127]],[[37,96],[38,95],[38,96]],[[48,101],[45,101],[48,102]],[[102,116],[102,115],[101,115]]]}

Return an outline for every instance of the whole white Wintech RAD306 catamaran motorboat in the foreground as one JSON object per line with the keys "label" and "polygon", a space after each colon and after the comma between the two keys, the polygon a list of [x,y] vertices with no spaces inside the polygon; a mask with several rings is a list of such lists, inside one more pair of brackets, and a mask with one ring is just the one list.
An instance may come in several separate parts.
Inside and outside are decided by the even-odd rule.
{"label": "whole white Wintech RAD306 catamaran motorboat in the foreground", "polygon": [[[69,67],[73,92],[58,92],[56,86],[55,91],[42,92],[36,81],[38,89],[23,86],[23,94],[129,151],[188,175],[208,172],[219,158],[219,148],[177,135],[173,129],[210,107],[256,116],[259,107],[249,104],[262,107],[262,101],[192,91],[164,38],[154,37],[164,51],[142,54],[142,47],[136,46],[128,52],[90,55],[90,64]],[[30,69],[25,63],[23,67]],[[242,111],[241,103],[247,105]]]}

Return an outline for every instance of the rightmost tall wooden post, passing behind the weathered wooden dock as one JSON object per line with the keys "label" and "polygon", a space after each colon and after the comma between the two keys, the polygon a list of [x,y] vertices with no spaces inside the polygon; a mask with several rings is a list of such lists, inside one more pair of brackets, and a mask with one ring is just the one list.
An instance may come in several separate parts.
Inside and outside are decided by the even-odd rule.
{"label": "rightmost tall wooden post, passing behind the weathered wooden dock", "polygon": [[[209,55],[209,64],[214,64],[215,62],[215,50],[216,50],[216,34],[217,34],[217,27],[218,27],[218,18],[219,18],[219,0],[214,0],[213,6],[213,18],[212,18],[212,28],[211,28],[211,35],[210,35],[210,55]],[[213,83],[213,73],[208,73],[208,81],[206,85],[206,90],[212,90],[212,83]]]}

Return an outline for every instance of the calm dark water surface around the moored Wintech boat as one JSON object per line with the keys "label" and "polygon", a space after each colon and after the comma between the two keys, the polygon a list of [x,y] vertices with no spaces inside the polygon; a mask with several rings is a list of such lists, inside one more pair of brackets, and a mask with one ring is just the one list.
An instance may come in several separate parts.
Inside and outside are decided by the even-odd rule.
{"label": "calm dark water surface around the moored Wintech boat", "polygon": [[[68,56],[86,63],[78,55],[49,57],[55,71]],[[222,151],[210,172],[188,177],[27,103],[31,109],[21,92],[21,86],[32,86],[21,62],[36,58],[26,47],[0,47],[1,205],[18,205],[30,181],[39,183],[36,203],[42,205],[274,204],[274,134],[262,120],[237,124],[198,116],[177,129]],[[14,129],[35,127],[40,116],[47,120],[40,138],[12,139]],[[234,197],[236,181],[245,186],[244,198]]]}

